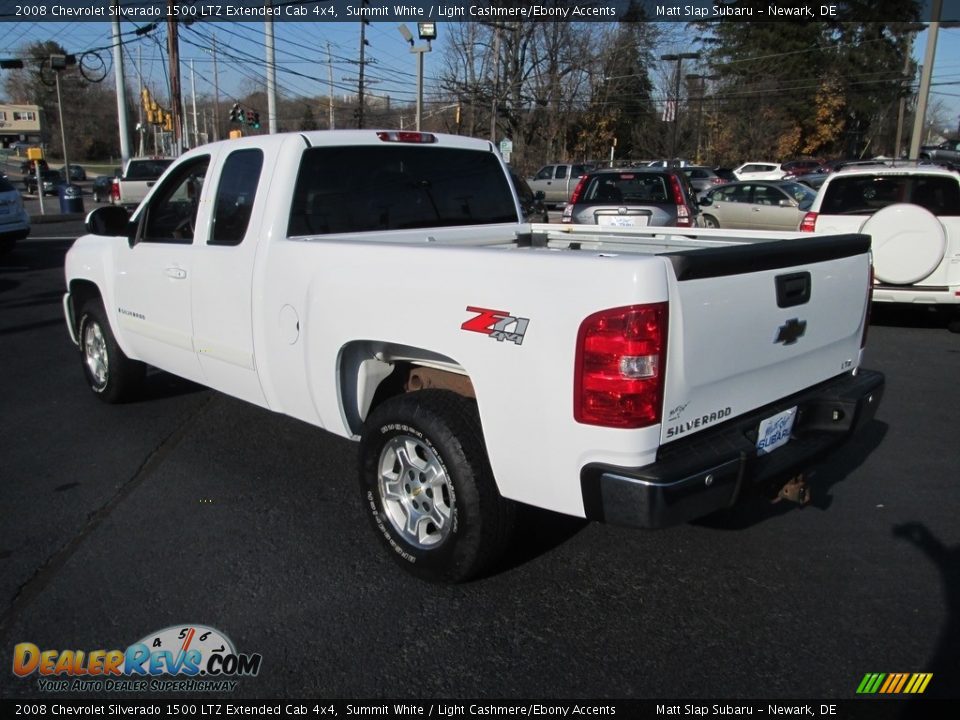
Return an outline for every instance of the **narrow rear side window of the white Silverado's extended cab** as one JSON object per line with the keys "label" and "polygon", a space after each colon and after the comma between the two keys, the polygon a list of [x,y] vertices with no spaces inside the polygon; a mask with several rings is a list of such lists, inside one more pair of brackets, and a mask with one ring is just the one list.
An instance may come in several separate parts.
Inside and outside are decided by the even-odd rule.
{"label": "narrow rear side window of the white Silverado's extended cab", "polygon": [[239,245],[243,242],[262,168],[262,150],[237,150],[227,158],[217,186],[213,232],[208,245]]}

